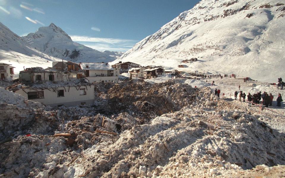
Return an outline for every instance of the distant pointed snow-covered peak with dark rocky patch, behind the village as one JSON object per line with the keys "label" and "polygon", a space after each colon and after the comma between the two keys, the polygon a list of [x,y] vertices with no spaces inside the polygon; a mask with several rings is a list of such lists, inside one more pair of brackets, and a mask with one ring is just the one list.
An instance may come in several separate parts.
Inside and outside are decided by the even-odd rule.
{"label": "distant pointed snow-covered peak with dark rocky patch, behind the village", "polygon": [[40,27],[35,33],[29,33],[22,38],[39,51],[73,62],[110,62],[121,56],[118,52],[100,52],[76,43],[53,23],[48,27]]}

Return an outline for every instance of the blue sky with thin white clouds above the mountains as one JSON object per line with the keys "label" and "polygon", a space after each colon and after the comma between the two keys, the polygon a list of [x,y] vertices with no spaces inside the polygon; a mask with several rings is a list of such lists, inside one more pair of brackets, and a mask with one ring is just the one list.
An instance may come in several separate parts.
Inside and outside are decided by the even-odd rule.
{"label": "blue sky with thin white clouds above the mountains", "polygon": [[0,22],[17,35],[53,22],[99,51],[132,48],[199,0],[0,0]]}

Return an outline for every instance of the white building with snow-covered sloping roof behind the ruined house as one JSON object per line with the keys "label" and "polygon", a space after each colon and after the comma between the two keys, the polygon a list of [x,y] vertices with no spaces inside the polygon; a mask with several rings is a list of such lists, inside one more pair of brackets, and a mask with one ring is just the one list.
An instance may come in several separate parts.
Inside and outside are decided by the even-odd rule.
{"label": "white building with snow-covered sloping roof behind the ruined house", "polygon": [[107,63],[79,63],[80,68],[85,71],[85,78],[89,82],[118,82],[120,70],[113,68]]}

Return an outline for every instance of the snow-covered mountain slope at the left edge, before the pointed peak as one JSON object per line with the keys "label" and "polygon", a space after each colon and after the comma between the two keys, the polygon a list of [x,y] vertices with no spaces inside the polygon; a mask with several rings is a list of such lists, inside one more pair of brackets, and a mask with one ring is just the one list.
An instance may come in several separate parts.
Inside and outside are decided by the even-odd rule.
{"label": "snow-covered mountain slope at the left edge, before the pointed peak", "polygon": [[0,62],[12,64],[16,67],[14,72],[23,70],[23,67],[51,67],[53,61],[61,60],[31,48],[0,22]]}

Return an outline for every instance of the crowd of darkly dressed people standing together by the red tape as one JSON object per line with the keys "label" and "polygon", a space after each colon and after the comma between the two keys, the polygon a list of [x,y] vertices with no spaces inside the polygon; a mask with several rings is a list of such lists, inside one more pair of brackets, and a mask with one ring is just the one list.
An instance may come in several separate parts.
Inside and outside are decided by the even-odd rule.
{"label": "crowd of darkly dressed people standing together by the red tape", "polygon": [[[262,105],[265,105],[265,107],[272,106],[272,102],[274,98],[274,96],[271,93],[269,93],[269,95],[267,94],[267,92],[263,92],[261,94],[261,91],[254,93],[253,95],[251,95],[250,93],[246,95],[243,91],[240,91],[239,93],[235,91],[234,95],[235,95],[235,100],[237,99],[237,97],[239,98],[239,101],[241,101],[241,98],[243,98],[243,102],[246,101],[246,97],[247,97],[248,106],[250,107],[251,107],[251,104],[252,105],[262,104]],[[277,101],[276,106],[281,106],[281,102],[283,100],[282,100],[282,96],[280,93],[278,94],[276,101]]]}

